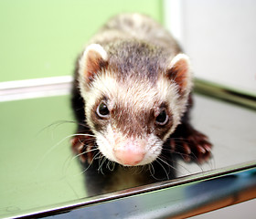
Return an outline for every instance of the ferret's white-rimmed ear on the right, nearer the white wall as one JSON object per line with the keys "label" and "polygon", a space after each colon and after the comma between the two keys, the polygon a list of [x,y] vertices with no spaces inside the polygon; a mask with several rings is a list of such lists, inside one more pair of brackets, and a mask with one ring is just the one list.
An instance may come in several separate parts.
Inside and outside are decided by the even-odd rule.
{"label": "ferret's white-rimmed ear on the right, nearer the white wall", "polygon": [[180,93],[190,89],[192,74],[189,57],[185,54],[176,55],[167,69],[167,77],[176,82]]}

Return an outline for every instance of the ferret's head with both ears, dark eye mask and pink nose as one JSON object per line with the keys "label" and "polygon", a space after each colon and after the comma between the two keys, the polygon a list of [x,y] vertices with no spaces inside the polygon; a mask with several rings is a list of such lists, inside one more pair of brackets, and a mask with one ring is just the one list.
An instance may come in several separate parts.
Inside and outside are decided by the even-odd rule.
{"label": "ferret's head with both ears, dark eye mask and pink nose", "polygon": [[160,155],[186,110],[192,87],[189,60],[178,54],[159,64],[149,54],[144,59],[152,67],[144,68],[133,63],[138,60],[131,56],[138,54],[124,53],[120,62],[110,49],[87,47],[79,63],[80,93],[101,153],[125,166],[144,165]]}

